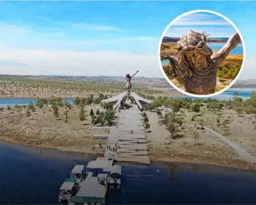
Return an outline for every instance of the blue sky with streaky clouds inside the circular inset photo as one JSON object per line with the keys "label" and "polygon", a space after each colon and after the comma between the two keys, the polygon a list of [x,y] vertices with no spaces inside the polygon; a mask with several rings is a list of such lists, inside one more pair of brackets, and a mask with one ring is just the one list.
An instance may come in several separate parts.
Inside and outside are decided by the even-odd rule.
{"label": "blue sky with streaky clouds inside the circular inset photo", "polygon": [[210,34],[209,38],[230,37],[236,29],[227,20],[213,13],[190,13],[176,20],[166,32],[168,37],[181,37],[188,31]]}

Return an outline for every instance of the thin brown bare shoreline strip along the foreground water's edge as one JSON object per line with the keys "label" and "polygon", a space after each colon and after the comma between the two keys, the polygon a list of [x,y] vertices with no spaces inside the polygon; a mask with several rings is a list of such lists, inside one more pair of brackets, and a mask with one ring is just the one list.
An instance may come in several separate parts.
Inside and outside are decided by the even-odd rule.
{"label": "thin brown bare shoreline strip along the foreground water's edge", "polygon": [[[104,157],[104,153],[97,153],[94,151],[81,151],[81,150],[74,150],[73,148],[64,148],[61,146],[52,146],[52,145],[29,145],[28,143],[24,142],[18,142],[17,140],[13,140],[11,138],[7,137],[0,137],[0,142],[4,143],[10,143],[13,145],[24,145],[28,147],[33,148],[45,148],[45,149],[55,149],[56,151],[60,152],[69,152],[73,154],[85,154],[86,156],[93,156],[93,157]],[[252,167],[252,165],[249,164],[249,162],[246,162],[245,160],[236,160],[237,164],[220,164],[218,162],[209,162],[206,160],[190,160],[190,159],[183,159],[181,157],[175,157],[175,156],[169,156],[168,154],[161,154],[158,156],[157,154],[150,154],[149,153],[149,159],[151,162],[163,162],[165,164],[168,163],[179,163],[179,164],[192,164],[192,165],[213,165],[217,167],[230,167],[230,168],[238,168],[239,170],[250,170],[250,171],[256,171],[256,168]],[[221,160],[221,159],[219,159]],[[129,164],[127,162],[127,164]],[[130,163],[133,164],[133,163]],[[138,163],[136,163],[138,164]],[[242,166],[238,164],[243,164]],[[247,164],[247,166],[244,166],[244,164]]]}

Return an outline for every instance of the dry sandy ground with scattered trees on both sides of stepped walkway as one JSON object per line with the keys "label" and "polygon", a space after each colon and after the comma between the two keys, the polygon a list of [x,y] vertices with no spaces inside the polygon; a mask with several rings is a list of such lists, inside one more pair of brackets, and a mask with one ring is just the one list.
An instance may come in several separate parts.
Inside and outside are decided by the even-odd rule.
{"label": "dry sandy ground with scattered trees on both sides of stepped walkway", "polygon": [[[50,81],[50,84],[52,85],[53,82]],[[70,82],[70,84],[75,83]],[[167,98],[159,96],[163,92],[155,94],[152,96],[154,102],[146,105],[148,123],[145,123],[149,125],[145,126],[145,132],[151,160],[254,168],[240,159],[236,151],[227,143],[203,127],[214,129],[230,141],[242,146],[252,156],[256,156],[255,92],[252,92],[251,98],[246,101],[239,98],[237,94],[230,101]],[[148,93],[141,93],[141,95],[146,96]],[[154,95],[154,92],[150,95]],[[94,103],[86,103],[86,99],[83,101],[84,104],[81,102],[68,104],[61,103],[59,101],[61,98],[38,98],[36,104],[2,108],[0,138],[24,145],[98,155],[100,153],[95,152],[92,149],[93,146],[99,142],[104,145],[106,141],[92,137],[92,126],[106,107],[102,108],[97,99]],[[54,106],[48,106],[48,103],[43,103],[44,101],[56,102],[53,103]],[[81,110],[84,110],[83,117],[81,117]],[[169,115],[180,119],[173,129],[170,129],[170,121],[163,121]],[[106,123],[105,121],[104,126],[108,126]],[[199,128],[189,127],[186,124],[196,124]],[[100,134],[107,134],[107,132],[102,131]]]}

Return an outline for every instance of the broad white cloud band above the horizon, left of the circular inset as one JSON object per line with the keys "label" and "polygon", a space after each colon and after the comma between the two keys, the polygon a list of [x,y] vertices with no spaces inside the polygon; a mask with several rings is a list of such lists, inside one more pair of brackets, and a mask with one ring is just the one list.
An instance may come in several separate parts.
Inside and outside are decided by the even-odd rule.
{"label": "broad white cloud band above the horizon, left of the circular inset", "polygon": [[0,60],[27,66],[0,65],[1,74],[61,74],[124,76],[139,70],[139,76],[163,77],[157,54],[138,55],[115,51],[75,52],[0,50]]}

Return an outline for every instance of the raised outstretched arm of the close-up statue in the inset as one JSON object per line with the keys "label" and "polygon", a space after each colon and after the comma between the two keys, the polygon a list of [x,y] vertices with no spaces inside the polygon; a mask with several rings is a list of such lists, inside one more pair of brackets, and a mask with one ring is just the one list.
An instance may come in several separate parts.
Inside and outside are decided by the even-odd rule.
{"label": "raised outstretched arm of the close-up statue in the inset", "polygon": [[228,39],[225,46],[223,46],[211,59],[219,65],[239,43],[241,43],[241,38],[239,37],[238,32],[235,32],[235,34]]}

